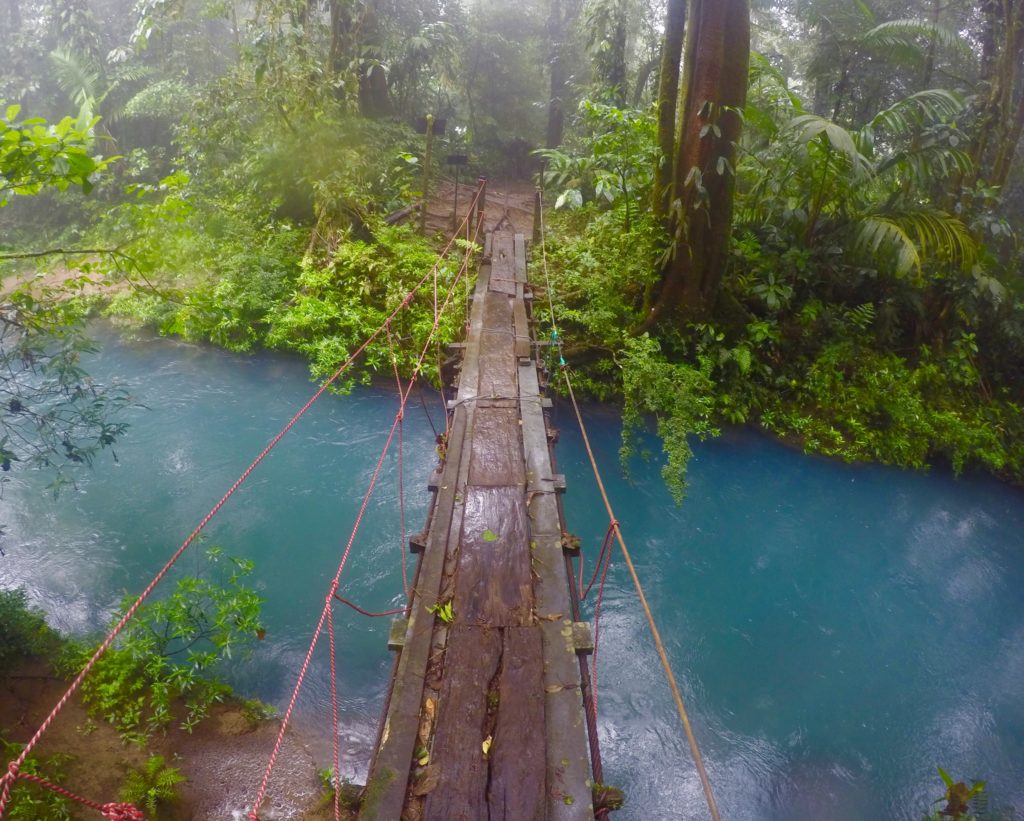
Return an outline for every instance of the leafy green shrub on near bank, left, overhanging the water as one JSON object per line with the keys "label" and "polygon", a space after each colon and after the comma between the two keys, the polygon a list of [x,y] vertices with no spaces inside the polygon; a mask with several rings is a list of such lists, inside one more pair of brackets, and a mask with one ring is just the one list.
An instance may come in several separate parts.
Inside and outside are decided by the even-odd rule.
{"label": "leafy green shrub on near bank, left, overhanging the water", "polygon": [[[82,686],[90,712],[126,741],[143,744],[175,720],[178,704],[184,707],[180,726],[191,732],[230,693],[217,678],[224,663],[265,635],[262,600],[244,585],[252,562],[224,556],[220,548],[210,548],[207,559],[207,577],[182,578],[166,599],[139,608]],[[131,602],[122,603],[116,618]],[[76,673],[92,652],[73,645],[65,654],[66,672]]]}

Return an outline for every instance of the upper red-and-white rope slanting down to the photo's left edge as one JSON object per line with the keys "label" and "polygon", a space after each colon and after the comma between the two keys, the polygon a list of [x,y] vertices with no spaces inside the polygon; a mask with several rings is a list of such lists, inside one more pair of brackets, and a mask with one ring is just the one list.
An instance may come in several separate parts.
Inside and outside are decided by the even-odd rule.
{"label": "upper red-and-white rope slanting down to the photo's left edge", "polygon": [[[473,202],[475,203],[478,199],[479,199],[479,191],[477,191],[477,195],[474,198]],[[185,541],[181,544],[181,546],[174,552],[174,554],[167,561],[167,563],[160,569],[157,575],[153,577],[153,580],[150,581],[150,584],[142,591],[142,593],[139,594],[138,598],[134,601],[131,607],[128,608],[128,610],[121,617],[118,623],[114,625],[114,629],[110,632],[110,634],[108,634],[106,638],[103,639],[102,643],[92,654],[92,657],[86,662],[85,666],[78,674],[75,680],[71,683],[67,692],[60,697],[60,700],[57,701],[56,705],[53,707],[50,714],[43,720],[43,723],[39,726],[39,729],[36,730],[36,733],[32,736],[32,738],[29,739],[28,743],[25,745],[17,759],[11,762],[10,766],[8,767],[8,772],[5,773],[2,778],[0,778],[0,781],[2,781],[3,783],[3,787],[2,789],[0,789],[0,818],[3,817],[4,812],[7,808],[7,804],[10,801],[10,790],[11,786],[13,785],[14,778],[16,777],[16,773],[20,768],[20,766],[25,763],[25,760],[29,757],[29,753],[36,746],[36,744],[39,743],[39,739],[42,738],[43,734],[49,729],[50,725],[56,719],[60,710],[63,709],[68,701],[71,700],[71,697],[78,691],[78,688],[82,685],[82,682],[85,680],[85,677],[89,675],[89,673],[95,666],[96,662],[103,655],[103,653],[105,653],[106,650],[110,649],[111,645],[114,643],[114,640],[121,634],[125,625],[135,615],[135,613],[138,611],[138,608],[142,606],[142,603],[145,601],[146,598],[148,598],[150,594],[153,593],[157,585],[159,585],[160,581],[163,580],[164,576],[167,575],[167,573],[174,566],[177,560],[196,541],[196,538],[206,528],[206,526],[210,523],[213,517],[217,515],[220,509],[234,494],[234,492],[239,489],[239,487],[241,487],[242,484],[246,481],[246,479],[249,478],[249,475],[266,458],[267,453],[269,453],[270,450],[272,450],[276,446],[278,442],[280,442],[285,437],[285,435],[295,426],[295,424],[305,415],[305,413],[312,406],[313,402],[315,402],[321,396],[323,396],[324,392],[343,373],[345,373],[345,371],[347,371],[351,366],[351,364],[355,361],[356,357],[358,357],[359,354],[361,354],[370,346],[370,344],[378,336],[380,336],[382,331],[390,327],[391,320],[394,319],[394,317],[397,316],[398,313],[404,310],[404,308],[413,301],[414,297],[416,296],[416,292],[419,291],[419,289],[423,286],[424,283],[426,283],[428,278],[430,278],[431,274],[433,274],[436,277],[437,268],[440,265],[441,261],[447,256],[449,251],[452,250],[452,247],[455,245],[455,240],[456,237],[453,236],[449,241],[447,245],[444,246],[444,249],[438,255],[438,259],[434,263],[433,267],[429,271],[427,271],[415,286],[413,286],[412,290],[410,290],[406,294],[404,298],[391,311],[388,317],[383,322],[381,322],[381,325],[369,337],[367,337],[367,339],[362,342],[362,344],[360,344],[358,348],[356,348],[355,351],[351,355],[349,355],[349,357],[338,368],[338,370],[334,372],[331,378],[328,379],[327,382],[325,382],[323,385],[321,385],[321,387],[316,390],[315,393],[313,393],[313,395],[308,399],[308,401],[306,401],[306,403],[302,405],[302,407],[298,410],[298,413],[295,414],[295,416],[293,416],[288,421],[285,427],[282,428],[281,431],[270,440],[270,442],[266,445],[266,447],[263,448],[263,450],[259,453],[259,456],[257,456],[256,459],[253,460],[252,464],[250,464],[249,467],[246,468],[243,474],[238,479],[236,479],[234,483],[227,489],[227,492],[225,492],[224,495],[220,498],[220,501],[217,502],[217,504],[214,505],[213,508],[211,508],[210,512],[207,513],[205,517],[203,517],[203,520],[196,526],[196,528],[191,531],[191,533],[188,534],[187,538],[185,538]],[[456,279],[456,282],[458,282],[458,278]],[[431,329],[430,336],[432,336],[433,333],[436,331],[437,323],[438,323],[437,319],[435,318],[434,327]],[[417,366],[417,369],[418,368],[419,365]],[[402,408],[404,408],[404,404],[406,400],[403,398]],[[392,433],[393,432],[394,429],[392,427]],[[390,443],[390,436],[388,437],[388,443]],[[349,547],[351,547],[351,543],[349,543]],[[345,552],[346,558],[348,550],[346,549]],[[335,589],[336,588],[337,585],[335,585]],[[321,630],[323,630],[323,618],[317,629],[317,636]],[[308,659],[307,659],[307,664],[308,664]],[[253,817],[255,817],[255,814],[253,815]]]}

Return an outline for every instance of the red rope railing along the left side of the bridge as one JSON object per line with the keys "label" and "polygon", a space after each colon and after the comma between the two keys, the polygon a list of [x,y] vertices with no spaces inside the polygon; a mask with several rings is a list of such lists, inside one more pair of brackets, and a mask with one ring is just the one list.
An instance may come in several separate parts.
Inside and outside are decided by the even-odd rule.
{"label": "red rope railing along the left side of the bridge", "polygon": [[[459,239],[459,233],[461,232],[461,230],[462,230],[463,227],[467,228],[467,235],[468,235],[469,229],[468,229],[467,223],[471,219],[471,217],[472,217],[472,215],[474,213],[479,213],[479,201],[480,201],[480,198],[481,198],[481,195],[482,195],[483,190],[484,190],[484,186],[483,186],[483,184],[481,184],[477,188],[477,191],[476,191],[476,195],[475,195],[475,197],[473,199],[473,203],[471,205],[470,211],[469,211],[469,213],[466,216],[466,220],[464,220],[463,225],[460,226],[460,228],[449,240],[449,242],[446,243],[446,245],[444,246],[444,248],[438,253],[437,260],[434,262],[434,264],[431,267],[431,269],[429,271],[427,271],[409,290],[409,292],[404,295],[404,297],[401,299],[401,301],[391,310],[391,312],[387,315],[387,317],[356,347],[356,349],[351,354],[349,354],[349,356],[337,368],[337,370],[335,370],[335,372],[331,375],[331,377],[329,379],[327,379],[319,386],[319,388],[317,388],[317,390],[312,394],[312,396],[310,396],[310,398],[305,402],[305,404],[303,404],[299,408],[299,410],[296,412],[296,414],[285,424],[285,426],[273,436],[273,438],[270,439],[270,441],[266,444],[266,446],[250,463],[250,465],[242,472],[242,474],[239,476],[239,478],[234,480],[234,482],[231,484],[231,486],[224,492],[224,494],[219,499],[219,501],[210,509],[210,511],[203,517],[203,519],[200,521],[200,523],[185,537],[184,542],[182,542],[181,545],[177,548],[177,550],[174,551],[174,553],[167,560],[167,562],[163,565],[163,567],[161,567],[161,569],[157,572],[157,574],[151,579],[150,584],[146,585],[146,587],[138,595],[138,597],[131,604],[131,606],[125,611],[124,615],[122,615],[122,617],[118,620],[118,622],[114,625],[114,628],[108,633],[108,635],[102,640],[102,642],[99,644],[99,646],[97,647],[97,649],[95,650],[95,652],[92,654],[92,656],[89,658],[89,660],[85,663],[85,665],[82,667],[82,669],[79,672],[79,674],[75,677],[75,679],[69,685],[69,687],[66,690],[66,692],[63,693],[63,695],[60,697],[60,699],[57,701],[57,703],[54,705],[54,707],[50,710],[50,712],[47,715],[47,717],[43,720],[42,724],[40,724],[39,728],[36,730],[36,732],[33,734],[33,736],[25,744],[25,746],[23,747],[23,749],[18,753],[18,755],[15,759],[13,759],[12,761],[8,762],[6,771],[3,773],[2,776],[0,776],[0,818],[3,818],[5,812],[6,812],[7,808],[8,808],[8,805],[10,803],[11,790],[13,789],[14,784],[18,780],[32,780],[32,781],[35,781],[35,782],[41,784],[44,787],[50,788],[50,782],[46,781],[45,779],[36,777],[36,776],[30,777],[29,774],[22,772],[22,767],[25,765],[26,760],[32,753],[33,749],[39,743],[40,739],[43,737],[43,735],[46,733],[46,731],[50,728],[50,726],[56,720],[57,716],[61,712],[61,710],[65,708],[65,706],[67,706],[68,702],[71,700],[71,698],[75,695],[75,693],[82,686],[82,683],[85,681],[85,679],[89,675],[89,673],[93,669],[93,667],[95,667],[96,663],[103,656],[103,654],[111,648],[111,646],[114,644],[114,642],[117,639],[117,637],[121,635],[121,633],[124,631],[124,629],[128,624],[128,622],[136,614],[136,612],[142,606],[142,604],[145,602],[145,600],[148,599],[148,597],[153,594],[154,590],[160,585],[160,582],[170,572],[171,568],[177,563],[177,561],[188,550],[188,548],[196,542],[196,539],[199,537],[199,535],[206,529],[207,525],[210,524],[210,522],[220,512],[220,510],[227,504],[227,502],[231,499],[231,496],[234,495],[236,491],[238,491],[238,489],[246,482],[246,480],[249,478],[249,476],[253,473],[253,471],[256,470],[256,468],[260,465],[260,463],[263,462],[263,460],[267,457],[267,455],[269,455],[269,452],[274,447],[276,447],[278,443],[289,433],[289,431],[292,430],[293,427],[295,427],[295,425],[299,422],[299,420],[301,420],[302,417],[305,416],[306,412],[309,410],[309,408],[313,405],[313,403],[315,403],[316,400],[319,399],[324,395],[325,392],[327,392],[327,390],[331,387],[331,385],[333,385],[335,382],[337,382],[337,380],[343,374],[345,374],[352,366],[352,364],[354,364],[355,360],[359,357],[359,355],[361,355],[362,352],[366,351],[367,348],[382,333],[385,333],[385,332],[390,333],[391,322],[407,307],[409,307],[410,304],[412,304],[412,302],[416,298],[416,295],[419,292],[419,290],[431,278],[431,276],[433,276],[434,288],[436,289],[437,272],[438,272],[438,270],[440,268],[440,265],[444,261],[444,259],[447,257],[447,255],[451,252],[451,250],[455,247],[456,241]],[[482,222],[482,220],[478,220],[477,221],[477,226],[476,226],[477,227],[477,231],[479,230],[480,222]],[[466,255],[466,259],[463,261],[463,264],[462,264],[462,266],[460,268],[459,273],[453,279],[452,289],[454,289],[455,285],[458,284],[458,282],[462,278],[462,275],[468,269],[468,265],[469,265],[469,257],[468,257],[468,254],[467,254]],[[436,290],[435,290],[435,293],[436,293]],[[450,292],[449,292],[449,298],[450,299],[451,299],[451,294],[452,293],[454,293],[454,292],[450,289]],[[417,366],[416,366],[416,369],[414,371],[414,378],[413,378],[413,380],[410,383],[410,390],[407,391],[401,396],[401,407],[399,409],[399,414],[401,414],[403,412],[403,409],[404,409],[406,403],[407,403],[407,401],[409,399],[409,393],[412,390],[412,385],[416,381],[416,377],[419,375],[419,370],[422,366],[423,357],[426,355],[426,351],[429,348],[430,341],[433,339],[433,336],[436,333],[438,325],[439,325],[439,315],[437,314],[437,311],[436,311],[436,298],[435,298],[435,303],[434,304],[435,304],[434,323],[433,323],[433,327],[430,330],[430,334],[428,335],[427,343],[424,346],[423,352],[421,353],[420,360],[418,361]],[[445,306],[446,306],[446,304],[447,304],[447,302],[445,302]],[[388,436],[388,445],[390,444],[390,441],[393,438],[393,435],[394,435],[394,426],[392,426],[391,433]],[[386,453],[386,447],[387,447],[387,445],[385,446],[385,453]],[[383,455],[382,455],[381,459],[383,460]],[[376,482],[377,475],[380,473],[381,464],[382,463],[378,464],[377,470],[374,473],[374,478],[373,478],[373,482],[374,483]],[[372,487],[371,487],[371,489],[372,489]],[[359,512],[359,520],[361,520],[362,513],[365,513],[366,504],[367,504],[368,501],[369,501],[369,495],[368,495],[367,500],[365,500],[365,502],[364,502],[364,508],[362,508],[362,510],[360,510],[360,512]],[[354,539],[354,531],[353,531],[353,534],[352,534],[352,538]],[[349,542],[348,546],[346,547],[345,555],[344,555],[343,560],[342,560],[343,562],[344,562],[345,559],[347,559],[348,551],[349,551],[350,548],[351,548],[351,541]],[[340,569],[341,568],[339,568],[339,573],[338,573],[339,576],[340,576]],[[331,597],[333,597],[334,593],[336,593],[336,592],[337,592],[337,580],[336,580],[336,582],[335,582],[335,585],[334,585],[334,587],[333,587],[333,589],[331,591],[331,595],[328,598],[328,602],[331,601]],[[325,605],[325,609],[328,609],[328,605]],[[322,617],[321,623],[317,626],[317,632],[316,632],[317,636],[319,635],[319,632],[323,630],[323,626],[324,626],[324,618]],[[294,706],[294,702],[290,705],[289,712],[291,711],[291,707],[293,707],[293,706]],[[283,738],[283,733],[282,733],[281,738]],[[280,746],[281,738],[279,738],[279,746]],[[275,752],[276,752],[276,749],[275,749]],[[269,771],[267,772],[267,778],[268,777],[269,777]],[[56,785],[53,785],[53,786],[56,786]],[[265,784],[264,784],[264,790],[265,790]],[[62,788],[59,788],[56,791],[60,792],[61,794],[63,794],[63,792],[65,792],[62,790]],[[108,818],[125,818],[125,819],[133,818],[133,817],[142,818],[141,814],[139,814],[138,816],[125,815],[124,812],[127,812],[127,811],[122,812],[122,810],[120,809],[120,808],[123,807],[122,805],[114,805],[114,804],[112,804],[112,805],[101,805],[101,804],[98,804],[98,803],[95,803],[95,802],[89,802],[87,800],[80,798],[79,796],[76,796],[73,793],[70,796],[74,797],[76,801],[79,801],[80,803],[84,804],[87,807],[91,807],[93,809],[99,809],[100,812],[105,812],[103,809],[100,809],[100,808],[108,808],[108,807],[110,807],[110,808],[114,808],[114,809],[111,810],[111,812],[121,812],[122,813],[122,815],[120,815],[120,816],[108,815],[106,816]],[[128,807],[130,807],[130,805],[128,805]],[[134,808],[131,808],[131,809],[134,810]],[[137,810],[135,812],[137,812]],[[255,815],[253,815],[252,817],[255,818]]]}

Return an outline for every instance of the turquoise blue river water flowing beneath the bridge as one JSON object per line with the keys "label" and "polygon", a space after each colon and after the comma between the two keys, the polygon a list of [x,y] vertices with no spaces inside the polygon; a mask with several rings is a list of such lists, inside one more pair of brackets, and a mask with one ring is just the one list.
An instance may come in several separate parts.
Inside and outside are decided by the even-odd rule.
{"label": "turquoise blue river water flowing beneath the bridge", "polygon": [[[56,501],[43,477],[13,471],[0,500],[0,586],[25,587],[76,633],[100,629],[143,586],[313,390],[290,357],[100,334],[90,370],[145,405],[119,461],[100,457]],[[438,424],[440,398],[424,401]],[[231,672],[245,694],[286,702],[395,406],[385,384],[326,396],[208,528],[208,545],[255,560],[266,600],[266,639]],[[568,409],[555,415],[569,526],[593,559],[607,522]],[[937,766],[987,779],[993,810],[1024,815],[1024,492],[843,465],[734,431],[696,445],[677,508],[656,465],[620,474],[613,412],[587,419],[723,818],[918,821],[942,793]],[[436,461],[418,401],[404,453],[418,530]],[[396,476],[390,457],[342,576],[342,594],[371,609],[403,600]],[[203,550],[176,572],[203,570]],[[336,621],[343,770],[358,779],[391,666],[387,619],[339,608]],[[617,556],[598,671],[605,780],[629,796],[614,817],[709,817]],[[329,715],[318,652],[300,728]]]}

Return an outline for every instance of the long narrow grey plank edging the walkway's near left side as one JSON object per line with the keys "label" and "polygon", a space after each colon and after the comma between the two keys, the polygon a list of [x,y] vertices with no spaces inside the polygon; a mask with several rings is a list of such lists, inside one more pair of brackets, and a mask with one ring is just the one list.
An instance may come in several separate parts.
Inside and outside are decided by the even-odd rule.
{"label": "long narrow grey plank edging the walkway's near left side", "polygon": [[466,437],[472,435],[473,407],[456,409],[449,436],[447,459],[434,514],[427,535],[415,588],[412,613],[398,667],[391,683],[388,711],[380,746],[367,779],[367,796],[359,810],[362,821],[390,821],[401,815],[416,746],[423,698],[423,676],[430,655],[434,616],[427,608],[436,603],[444,566],[444,552],[454,513],[457,480],[462,468]]}

